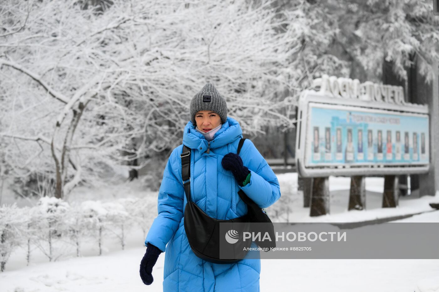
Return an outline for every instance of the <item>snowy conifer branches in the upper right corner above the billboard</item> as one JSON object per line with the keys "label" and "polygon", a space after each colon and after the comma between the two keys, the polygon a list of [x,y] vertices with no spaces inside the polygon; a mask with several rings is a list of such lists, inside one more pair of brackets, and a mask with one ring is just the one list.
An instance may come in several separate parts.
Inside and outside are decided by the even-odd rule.
{"label": "snowy conifer branches in the upper right corner above the billboard", "polygon": [[[439,57],[439,18],[432,1],[324,0],[309,6],[322,5],[324,21],[336,28],[331,53],[349,62],[351,77],[380,82],[386,60],[407,80],[406,69],[417,58],[420,73],[432,80],[432,61]],[[356,68],[363,72],[353,72]]]}

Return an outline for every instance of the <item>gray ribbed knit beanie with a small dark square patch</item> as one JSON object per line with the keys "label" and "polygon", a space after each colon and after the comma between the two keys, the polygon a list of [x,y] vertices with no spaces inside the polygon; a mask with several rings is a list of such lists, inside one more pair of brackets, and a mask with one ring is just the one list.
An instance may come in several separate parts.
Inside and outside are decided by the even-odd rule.
{"label": "gray ribbed knit beanie with a small dark square patch", "polygon": [[200,110],[212,110],[221,118],[221,124],[227,121],[227,103],[212,83],[204,85],[203,89],[191,100],[191,121],[196,125],[195,114]]}

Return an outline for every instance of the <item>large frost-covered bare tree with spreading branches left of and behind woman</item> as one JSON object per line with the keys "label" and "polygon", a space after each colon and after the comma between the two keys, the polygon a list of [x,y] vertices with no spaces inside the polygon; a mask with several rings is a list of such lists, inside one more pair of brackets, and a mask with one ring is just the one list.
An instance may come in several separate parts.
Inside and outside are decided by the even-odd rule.
{"label": "large frost-covered bare tree with spreading branches left of and behind woman", "polygon": [[292,125],[279,108],[293,100],[276,94],[291,87],[299,46],[294,29],[276,32],[288,19],[269,1],[114,1],[98,15],[77,3],[4,5],[0,135],[11,175],[44,172],[63,197],[106,165],[169,149],[206,81],[246,131],[261,117]]}

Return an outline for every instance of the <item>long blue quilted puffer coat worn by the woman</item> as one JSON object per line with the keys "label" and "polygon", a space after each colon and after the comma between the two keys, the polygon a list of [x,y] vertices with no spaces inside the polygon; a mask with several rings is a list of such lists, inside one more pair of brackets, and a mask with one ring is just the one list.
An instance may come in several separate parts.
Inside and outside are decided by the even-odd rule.
{"label": "long blue quilted puffer coat worn by the woman", "polygon": [[[237,152],[241,126],[228,117],[209,142],[189,121],[183,143],[192,149],[191,200],[210,217],[232,219],[247,213],[247,205],[237,194],[240,186],[221,160]],[[158,216],[145,239],[166,249],[164,292],[258,292],[260,260],[244,258],[235,264],[212,264],[195,256],[184,231],[184,195],[181,179],[183,145],[171,153],[158,193]],[[252,141],[245,140],[240,156],[251,172],[250,183],[241,189],[260,207],[268,207],[281,196],[276,175]],[[168,244],[169,242],[169,244]],[[167,244],[167,245],[166,245]],[[252,243],[252,247],[257,247]]]}

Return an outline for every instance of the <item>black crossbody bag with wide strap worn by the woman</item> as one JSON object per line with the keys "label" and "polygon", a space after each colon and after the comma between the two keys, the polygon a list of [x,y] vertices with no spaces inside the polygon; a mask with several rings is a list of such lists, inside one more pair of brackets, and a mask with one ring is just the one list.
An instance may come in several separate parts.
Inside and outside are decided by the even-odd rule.
{"label": "black crossbody bag with wide strap worn by the woman", "polygon": [[[239,141],[237,149],[238,155],[241,150],[242,144],[244,143],[244,140],[245,139],[241,139]],[[244,231],[252,231],[252,227],[250,225],[251,222],[270,223],[263,224],[264,226],[271,225],[271,228],[270,226],[268,226],[268,228],[263,228],[266,229],[263,232],[267,231],[269,233],[272,233],[270,234],[270,238],[272,239],[272,241],[261,241],[256,243],[259,246],[261,246],[260,244],[262,244],[263,246],[261,247],[275,246],[274,228],[270,218],[266,215],[265,211],[257,206],[256,203],[252,201],[252,199],[248,198],[248,196],[245,195],[242,190],[240,190],[238,194],[241,199],[247,204],[248,213],[244,216],[230,220],[219,220],[216,218],[212,218],[209,215],[205,214],[205,212],[201,210],[201,208],[198,207],[197,204],[192,202],[190,179],[191,149],[183,145],[183,152],[180,157],[181,178],[184,182],[184,192],[187,199],[187,204],[184,209],[184,229],[186,231],[189,245],[191,246],[191,249],[196,256],[215,264],[231,264],[242,260],[248,253],[248,248],[252,244],[252,241],[238,240],[233,244],[224,243],[224,240],[222,240],[222,238],[220,237],[225,237],[226,234],[219,233],[220,223],[227,224],[227,229],[237,231],[237,234],[242,234],[242,232]],[[234,236],[234,234],[231,234],[231,236]],[[221,253],[227,254],[230,258],[224,259],[220,256],[220,244],[222,244]]]}

